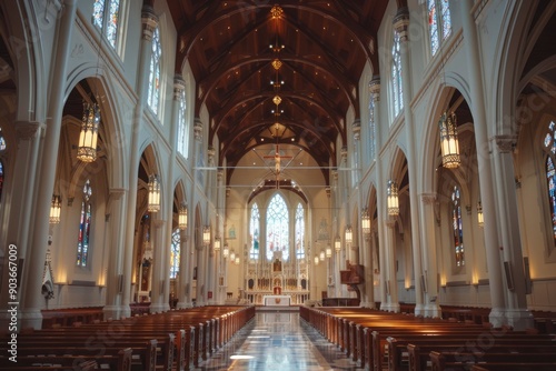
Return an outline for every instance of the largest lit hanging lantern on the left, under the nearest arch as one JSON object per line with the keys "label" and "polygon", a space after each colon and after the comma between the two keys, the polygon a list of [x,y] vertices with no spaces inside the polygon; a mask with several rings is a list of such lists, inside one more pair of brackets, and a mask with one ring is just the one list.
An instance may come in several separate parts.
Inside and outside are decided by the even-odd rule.
{"label": "largest lit hanging lantern on the left, under the nearest arch", "polygon": [[97,160],[100,110],[97,103],[83,102],[83,118],[77,148],[77,158],[83,162]]}

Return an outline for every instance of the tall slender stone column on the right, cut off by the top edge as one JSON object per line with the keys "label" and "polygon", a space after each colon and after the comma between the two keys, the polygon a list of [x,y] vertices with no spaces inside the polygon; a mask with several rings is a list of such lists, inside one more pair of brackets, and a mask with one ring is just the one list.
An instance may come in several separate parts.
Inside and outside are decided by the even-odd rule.
{"label": "tall slender stone column on the right, cut off by the top edge", "polygon": [[504,285],[502,278],[502,262],[498,244],[498,228],[494,192],[493,169],[488,142],[488,122],[486,120],[485,96],[483,76],[480,70],[479,43],[477,28],[471,17],[473,0],[461,0],[460,13],[464,30],[464,54],[467,56],[469,69],[469,93],[473,101],[468,102],[471,109],[475,129],[475,142],[477,148],[478,177],[480,200],[483,203],[483,218],[485,220],[485,249],[487,258],[488,281],[490,289],[492,311],[489,321],[495,328],[503,325],[505,321]]}

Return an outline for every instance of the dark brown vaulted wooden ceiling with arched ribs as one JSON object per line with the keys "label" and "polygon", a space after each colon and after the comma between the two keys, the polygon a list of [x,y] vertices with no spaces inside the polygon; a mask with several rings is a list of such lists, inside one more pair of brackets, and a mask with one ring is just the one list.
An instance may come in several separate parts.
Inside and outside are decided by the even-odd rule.
{"label": "dark brown vaulted wooden ceiling with arched ribs", "polygon": [[378,73],[376,34],[387,2],[168,1],[178,30],[176,71],[189,62],[195,114],[208,111],[209,143],[218,138],[228,179],[265,143],[295,144],[318,166],[336,166],[346,113],[359,114],[365,63]]}

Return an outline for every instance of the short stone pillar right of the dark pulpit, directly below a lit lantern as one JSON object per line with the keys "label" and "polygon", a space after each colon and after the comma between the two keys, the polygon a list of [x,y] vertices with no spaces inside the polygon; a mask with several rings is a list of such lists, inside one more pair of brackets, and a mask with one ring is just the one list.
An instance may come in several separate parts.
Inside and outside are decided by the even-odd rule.
{"label": "short stone pillar right of the dark pulpit, directly below a lit lantern", "polygon": [[380,309],[389,312],[399,312],[398,302],[398,280],[396,274],[396,221],[394,219],[387,219],[385,221],[388,231],[386,233],[386,280],[384,281],[385,301],[380,303]]}

